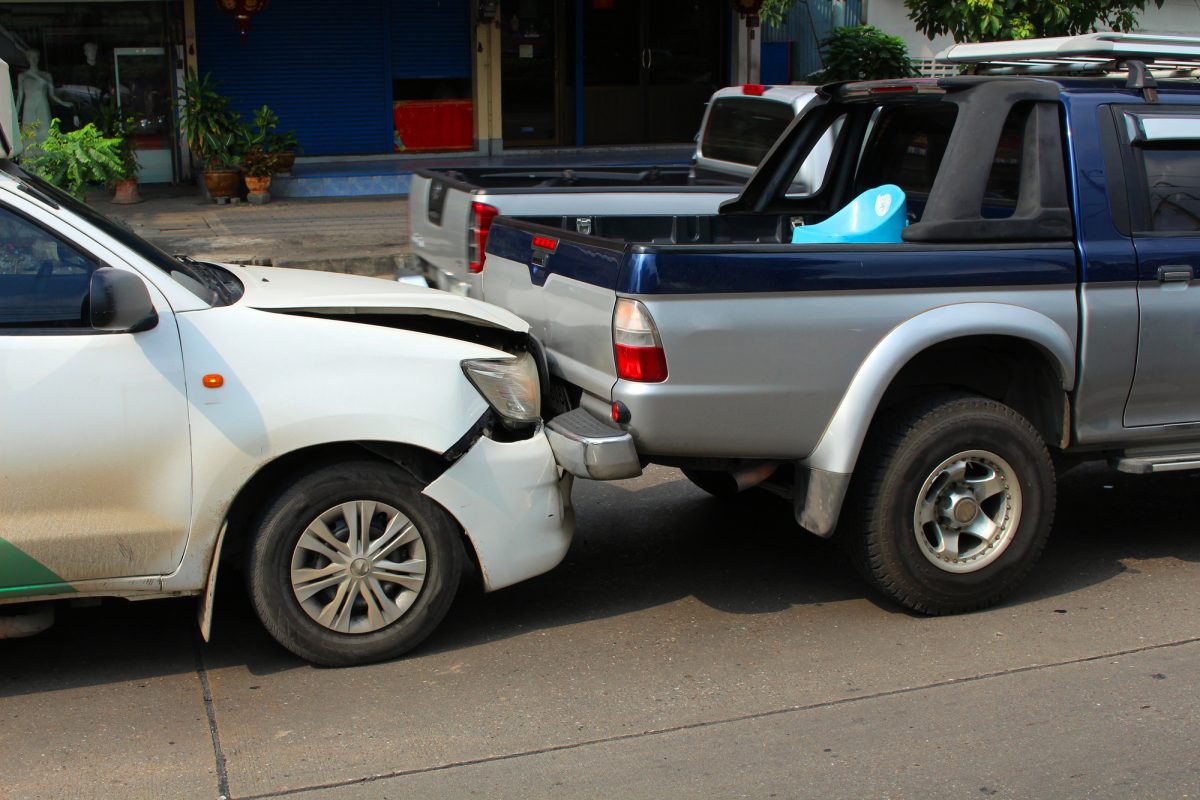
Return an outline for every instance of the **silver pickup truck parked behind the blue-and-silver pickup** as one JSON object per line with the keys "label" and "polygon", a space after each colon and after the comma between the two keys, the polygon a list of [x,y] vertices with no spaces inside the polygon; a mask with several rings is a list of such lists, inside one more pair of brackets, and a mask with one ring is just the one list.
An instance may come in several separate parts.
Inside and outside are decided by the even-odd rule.
{"label": "silver pickup truck parked behind the blue-and-silver pickup", "polygon": [[714,213],[737,196],[779,134],[815,97],[811,86],[718,90],[701,122],[690,168],[419,169],[408,196],[410,271],[437,289],[481,296],[487,231],[498,215],[548,219]]}

